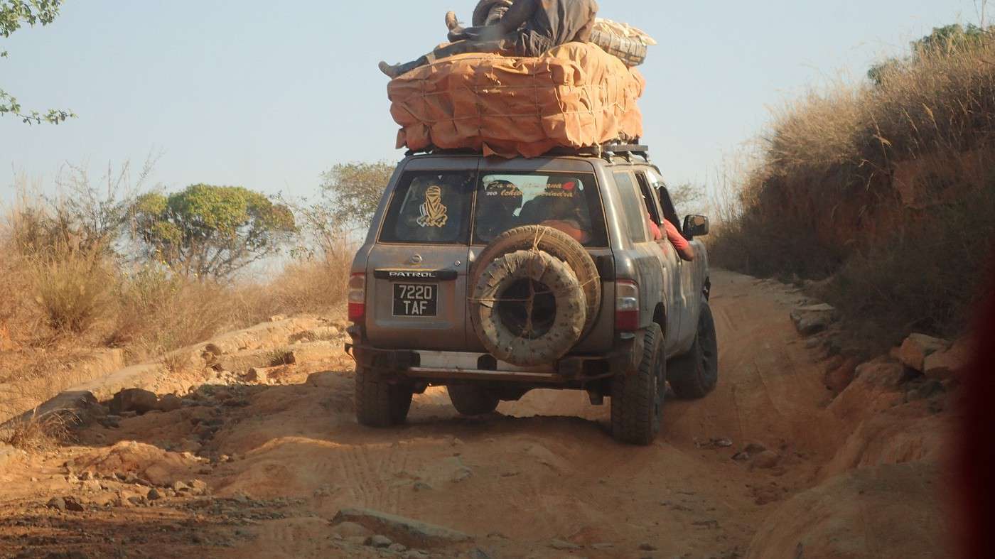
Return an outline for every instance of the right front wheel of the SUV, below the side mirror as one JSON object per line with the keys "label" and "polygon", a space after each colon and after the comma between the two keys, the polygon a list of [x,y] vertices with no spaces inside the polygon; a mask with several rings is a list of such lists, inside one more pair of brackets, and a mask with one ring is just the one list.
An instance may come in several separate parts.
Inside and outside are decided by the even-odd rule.
{"label": "right front wheel of the SUV, below the side mirror", "polygon": [[695,344],[688,353],[671,359],[668,370],[671,388],[682,400],[703,398],[714,390],[718,383],[718,341],[707,302],[701,302]]}

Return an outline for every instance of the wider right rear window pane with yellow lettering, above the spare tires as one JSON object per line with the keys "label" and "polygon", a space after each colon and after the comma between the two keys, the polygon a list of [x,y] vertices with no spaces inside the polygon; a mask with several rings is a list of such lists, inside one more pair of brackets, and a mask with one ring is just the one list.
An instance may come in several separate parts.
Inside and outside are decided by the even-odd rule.
{"label": "wider right rear window pane with yellow lettering, above the spare tires", "polygon": [[474,244],[487,245],[524,225],[563,231],[585,247],[608,245],[593,174],[481,173]]}

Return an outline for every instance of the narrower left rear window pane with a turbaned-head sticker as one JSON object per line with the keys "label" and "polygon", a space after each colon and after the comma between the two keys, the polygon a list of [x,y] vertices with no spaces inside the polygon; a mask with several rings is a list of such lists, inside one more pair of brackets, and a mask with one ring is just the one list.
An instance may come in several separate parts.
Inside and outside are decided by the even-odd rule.
{"label": "narrower left rear window pane with a turbaned-head sticker", "polygon": [[476,171],[405,173],[387,208],[380,242],[465,245],[476,178]]}

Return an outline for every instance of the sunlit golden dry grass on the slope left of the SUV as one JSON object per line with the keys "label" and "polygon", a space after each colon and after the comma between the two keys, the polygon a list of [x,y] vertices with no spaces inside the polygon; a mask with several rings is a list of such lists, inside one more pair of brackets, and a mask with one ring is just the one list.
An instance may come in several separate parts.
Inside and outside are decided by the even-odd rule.
{"label": "sunlit golden dry grass on the slope left of the SUV", "polygon": [[[89,380],[81,363],[107,348],[178,371],[190,363],[176,349],[276,314],[335,311],[345,295],[353,252],[345,242],[290,262],[273,280],[197,281],[81,242],[69,218],[21,197],[0,227],[0,422]],[[39,450],[65,427],[58,415],[34,418],[0,437]]]}

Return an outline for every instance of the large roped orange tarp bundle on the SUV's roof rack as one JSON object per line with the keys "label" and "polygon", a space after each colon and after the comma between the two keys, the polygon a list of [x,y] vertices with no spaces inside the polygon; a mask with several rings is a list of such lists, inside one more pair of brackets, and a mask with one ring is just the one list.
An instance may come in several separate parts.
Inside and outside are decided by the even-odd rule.
{"label": "large roped orange tarp bundle on the SUV's roof rack", "polygon": [[646,82],[588,43],[539,58],[459,55],[396,78],[387,87],[401,125],[397,147],[473,148],[537,157],[643,134],[636,104]]}

